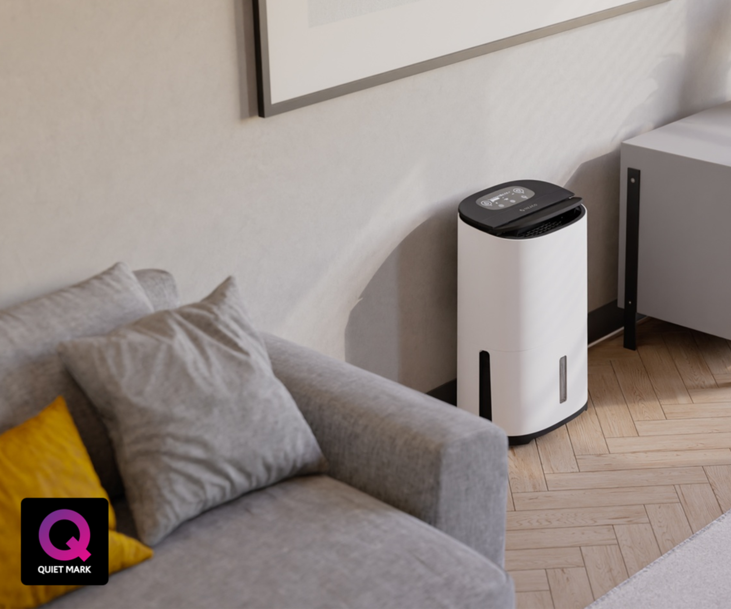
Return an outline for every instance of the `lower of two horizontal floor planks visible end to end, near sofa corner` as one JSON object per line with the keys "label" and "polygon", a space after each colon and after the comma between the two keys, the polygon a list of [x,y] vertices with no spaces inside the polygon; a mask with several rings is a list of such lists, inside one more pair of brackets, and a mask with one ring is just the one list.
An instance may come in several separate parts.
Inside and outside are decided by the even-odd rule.
{"label": "lower of two horizontal floor planks visible end to end, near sofa corner", "polygon": [[677,503],[678,494],[673,486],[645,486],[627,488],[596,488],[591,493],[577,491],[545,491],[542,493],[515,493],[515,510],[558,510],[562,507],[592,507],[608,505],[636,505],[648,503]]}

